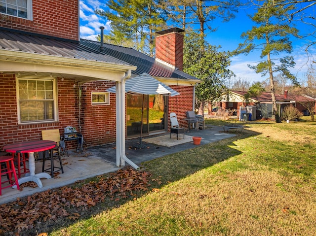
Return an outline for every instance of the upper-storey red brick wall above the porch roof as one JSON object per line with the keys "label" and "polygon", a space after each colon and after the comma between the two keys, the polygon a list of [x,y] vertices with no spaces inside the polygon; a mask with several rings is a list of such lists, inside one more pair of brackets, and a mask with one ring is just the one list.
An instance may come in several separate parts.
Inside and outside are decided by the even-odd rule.
{"label": "upper-storey red brick wall above the porch roof", "polygon": [[78,0],[33,0],[33,20],[0,14],[0,27],[79,40]]}

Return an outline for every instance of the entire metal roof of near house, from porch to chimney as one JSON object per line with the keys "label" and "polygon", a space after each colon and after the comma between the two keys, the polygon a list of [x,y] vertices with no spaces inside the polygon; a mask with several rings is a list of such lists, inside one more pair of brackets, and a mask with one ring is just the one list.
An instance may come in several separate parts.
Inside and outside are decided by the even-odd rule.
{"label": "entire metal roof of near house, from porch to chimney", "polygon": [[101,52],[100,46],[100,42],[87,39],[63,40],[41,34],[0,29],[0,50],[137,66],[137,69],[132,71],[133,75],[146,72],[154,77],[200,81],[194,76],[159,62],[135,49],[105,43]]}

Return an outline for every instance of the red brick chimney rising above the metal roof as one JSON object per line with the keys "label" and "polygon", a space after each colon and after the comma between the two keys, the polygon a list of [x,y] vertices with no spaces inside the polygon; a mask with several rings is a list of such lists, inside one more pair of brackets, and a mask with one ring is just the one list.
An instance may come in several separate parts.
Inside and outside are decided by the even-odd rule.
{"label": "red brick chimney rising above the metal roof", "polygon": [[183,70],[183,34],[180,28],[156,32],[156,58]]}

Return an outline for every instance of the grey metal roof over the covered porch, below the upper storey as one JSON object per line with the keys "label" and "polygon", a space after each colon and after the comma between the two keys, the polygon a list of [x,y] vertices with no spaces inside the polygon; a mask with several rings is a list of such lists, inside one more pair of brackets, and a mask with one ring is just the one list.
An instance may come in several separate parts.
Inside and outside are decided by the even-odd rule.
{"label": "grey metal roof over the covered porch, below the upper storey", "polygon": [[0,48],[118,65],[131,65],[98,50],[87,48],[79,42],[63,41],[43,35],[35,36],[0,30]]}

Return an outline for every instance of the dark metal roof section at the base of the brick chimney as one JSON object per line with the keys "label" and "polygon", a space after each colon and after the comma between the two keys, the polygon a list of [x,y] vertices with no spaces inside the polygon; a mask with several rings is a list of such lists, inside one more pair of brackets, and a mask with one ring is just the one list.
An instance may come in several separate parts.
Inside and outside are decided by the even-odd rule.
{"label": "dark metal roof section at the base of the brick chimney", "polygon": [[[94,50],[99,50],[101,46],[100,42],[87,39],[80,39],[80,44]],[[170,67],[167,64],[158,62],[157,60],[155,60],[155,58],[152,58],[135,49],[107,43],[104,43],[103,46],[103,52],[105,54],[122,60],[130,65],[137,66],[137,69],[132,71],[132,74],[134,75],[139,75],[146,72],[154,77],[177,78],[183,80],[190,79],[199,81],[199,79],[197,79],[196,77],[191,76],[181,70]]]}

